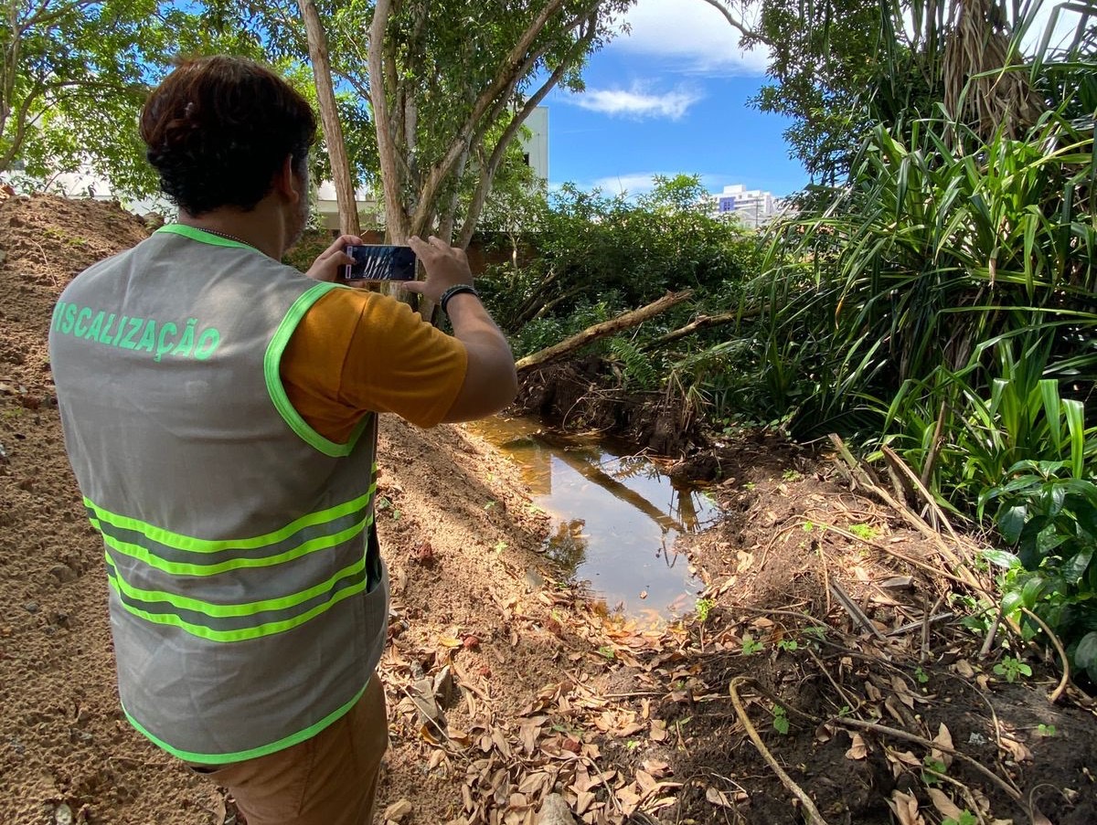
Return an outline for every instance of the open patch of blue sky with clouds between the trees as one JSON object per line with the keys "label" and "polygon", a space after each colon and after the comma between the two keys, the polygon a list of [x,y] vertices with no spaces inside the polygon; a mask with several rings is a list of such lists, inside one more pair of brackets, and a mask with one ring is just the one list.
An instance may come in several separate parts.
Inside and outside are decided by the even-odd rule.
{"label": "open patch of blue sky with clouds between the trees", "polygon": [[731,183],[787,195],[807,183],[789,157],[784,118],[747,104],[765,80],[760,53],[701,0],[638,0],[629,34],[595,54],[587,91],[556,89],[548,108],[551,185],[631,194],[653,174],[700,174],[710,192]]}

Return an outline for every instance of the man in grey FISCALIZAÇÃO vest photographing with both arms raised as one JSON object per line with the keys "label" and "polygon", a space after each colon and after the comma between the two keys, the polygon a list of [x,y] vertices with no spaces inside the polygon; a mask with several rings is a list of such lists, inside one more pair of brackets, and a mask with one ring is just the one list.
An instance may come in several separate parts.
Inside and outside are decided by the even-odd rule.
{"label": "man in grey FISCALIZA\u00c7\u00c3O vest photographing with both arms raised", "polygon": [[250,60],[181,63],[140,134],[179,206],[77,275],[49,332],[66,450],[105,547],[118,694],[249,825],[372,820],[387,747],[377,416],[491,415],[517,392],[462,250],[410,238],[453,335],[338,283],[343,235],[280,263],[316,122]]}

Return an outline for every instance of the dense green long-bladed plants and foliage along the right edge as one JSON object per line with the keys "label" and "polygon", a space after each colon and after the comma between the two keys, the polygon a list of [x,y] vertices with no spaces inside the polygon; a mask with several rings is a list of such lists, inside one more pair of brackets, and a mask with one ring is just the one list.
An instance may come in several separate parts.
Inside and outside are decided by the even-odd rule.
{"label": "dense green long-bladed plants and foliage along the right edge", "polygon": [[[1032,610],[1093,676],[1097,7],[1072,7],[1076,36],[1058,53],[1047,38],[1020,49],[1030,2],[964,32],[955,3],[936,18],[928,3],[762,7],[757,42],[783,60],[767,104],[818,127],[802,157],[848,174],[771,227],[740,290],[744,312],[764,307],[721,344],[740,355],[728,385],[744,417],[890,444],[961,519],[993,502],[1017,552],[997,560],[1004,607]],[[971,32],[985,52],[957,50]],[[998,63],[960,59],[976,53]],[[988,125],[995,84],[1017,116]],[[827,144],[842,131],[852,144]],[[1011,662],[1002,675],[1024,675]]]}

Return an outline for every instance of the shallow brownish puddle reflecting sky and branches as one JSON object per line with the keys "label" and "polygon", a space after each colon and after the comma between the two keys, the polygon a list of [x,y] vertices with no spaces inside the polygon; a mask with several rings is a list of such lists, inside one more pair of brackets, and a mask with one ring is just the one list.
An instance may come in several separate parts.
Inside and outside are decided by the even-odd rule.
{"label": "shallow brownish puddle reflecting sky and branches", "polygon": [[529,419],[467,428],[519,465],[534,504],[555,520],[546,553],[608,612],[658,622],[693,609],[700,584],[674,544],[720,517],[703,491],[676,486],[647,459]]}

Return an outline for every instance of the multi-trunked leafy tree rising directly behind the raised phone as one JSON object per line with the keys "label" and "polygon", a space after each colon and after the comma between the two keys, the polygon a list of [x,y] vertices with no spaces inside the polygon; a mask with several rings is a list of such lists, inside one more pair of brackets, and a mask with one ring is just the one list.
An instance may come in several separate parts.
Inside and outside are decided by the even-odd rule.
{"label": "multi-trunked leafy tree rising directly behind the raised phone", "polygon": [[[457,242],[467,246],[507,146],[551,89],[581,88],[578,68],[631,2],[489,9],[468,0],[441,10],[421,0],[377,0],[369,94],[388,237],[399,242],[436,230],[450,240],[463,207]],[[455,20],[474,24],[454,36]],[[531,88],[539,69],[544,79]],[[476,176],[467,203],[457,196],[465,174]]]}

